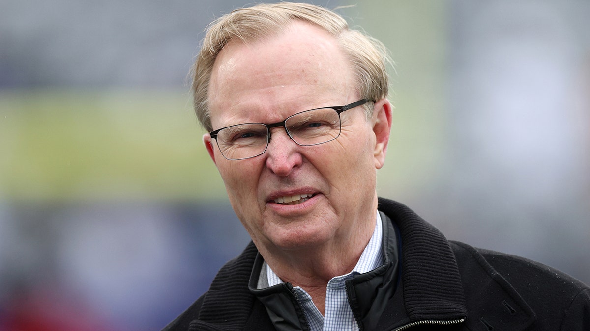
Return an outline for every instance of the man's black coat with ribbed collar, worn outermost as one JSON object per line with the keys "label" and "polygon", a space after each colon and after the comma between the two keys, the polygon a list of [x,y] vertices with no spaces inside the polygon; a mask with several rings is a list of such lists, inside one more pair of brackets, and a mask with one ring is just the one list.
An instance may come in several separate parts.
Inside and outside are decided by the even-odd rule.
{"label": "man's black coat with ribbed collar, worn outermost", "polygon": [[[379,316],[371,313],[374,307],[351,304],[353,312],[368,312],[362,329],[590,330],[590,288],[578,280],[521,257],[448,241],[395,201],[379,198],[379,210],[401,235],[401,282],[386,282],[396,283],[394,293],[372,302]],[[386,235],[395,230],[388,223],[383,244],[391,250]],[[266,307],[248,288],[258,255],[250,243],[164,330],[274,330]]]}

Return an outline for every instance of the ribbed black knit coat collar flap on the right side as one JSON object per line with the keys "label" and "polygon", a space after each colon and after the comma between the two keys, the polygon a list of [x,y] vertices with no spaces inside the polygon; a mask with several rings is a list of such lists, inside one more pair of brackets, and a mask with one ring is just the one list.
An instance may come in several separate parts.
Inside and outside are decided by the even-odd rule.
{"label": "ribbed black knit coat collar flap on the right side", "polygon": [[447,239],[401,203],[379,198],[379,210],[401,234],[401,280],[409,321],[466,318],[463,284]]}

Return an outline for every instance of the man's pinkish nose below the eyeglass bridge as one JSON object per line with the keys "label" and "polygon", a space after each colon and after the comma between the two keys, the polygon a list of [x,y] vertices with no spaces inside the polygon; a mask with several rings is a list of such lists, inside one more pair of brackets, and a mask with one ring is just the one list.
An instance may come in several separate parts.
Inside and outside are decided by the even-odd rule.
{"label": "man's pinkish nose below the eyeglass bridge", "polygon": [[267,168],[277,176],[289,176],[303,163],[299,148],[301,146],[289,137],[283,127],[271,129],[271,139],[264,153]]}

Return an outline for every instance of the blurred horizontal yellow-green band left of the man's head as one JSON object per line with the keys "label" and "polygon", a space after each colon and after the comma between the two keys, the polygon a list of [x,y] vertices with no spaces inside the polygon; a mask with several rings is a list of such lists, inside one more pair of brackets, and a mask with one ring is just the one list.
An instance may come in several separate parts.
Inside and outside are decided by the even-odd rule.
{"label": "blurred horizontal yellow-green band left of the man's head", "polygon": [[184,91],[3,91],[0,197],[221,197],[201,136]]}

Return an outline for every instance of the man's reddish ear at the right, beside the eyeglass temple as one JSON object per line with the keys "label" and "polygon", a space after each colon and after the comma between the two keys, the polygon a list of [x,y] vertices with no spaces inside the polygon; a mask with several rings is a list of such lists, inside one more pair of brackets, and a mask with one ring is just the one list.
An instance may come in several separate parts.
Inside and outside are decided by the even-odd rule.
{"label": "man's reddish ear at the right, beside the eyeglass temple", "polygon": [[373,108],[373,133],[375,133],[373,156],[377,169],[381,169],[385,164],[385,154],[387,154],[387,144],[391,132],[391,113],[392,106],[389,100],[383,98],[375,102]]}

